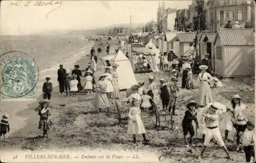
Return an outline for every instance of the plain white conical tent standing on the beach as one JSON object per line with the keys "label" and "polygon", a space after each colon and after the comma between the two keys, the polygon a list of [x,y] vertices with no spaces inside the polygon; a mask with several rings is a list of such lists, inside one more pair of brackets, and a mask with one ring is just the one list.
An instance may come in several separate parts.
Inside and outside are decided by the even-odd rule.
{"label": "plain white conical tent standing on the beach", "polygon": [[118,74],[119,90],[129,89],[133,85],[137,85],[131,61],[124,56],[124,53],[121,50],[118,51],[113,60],[114,63],[119,65],[116,69]]}

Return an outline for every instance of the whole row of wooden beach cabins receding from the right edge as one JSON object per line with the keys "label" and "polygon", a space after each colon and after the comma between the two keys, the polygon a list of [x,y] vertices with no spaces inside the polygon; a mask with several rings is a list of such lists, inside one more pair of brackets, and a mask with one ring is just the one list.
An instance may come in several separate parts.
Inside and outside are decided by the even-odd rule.
{"label": "whole row of wooden beach cabins receding from the right edge", "polygon": [[200,59],[209,53],[212,70],[221,77],[254,76],[255,73],[255,30],[220,29],[212,32],[166,32],[162,36],[142,34],[143,44],[152,41],[159,50],[170,49],[177,56],[184,55],[189,44],[197,43]]}

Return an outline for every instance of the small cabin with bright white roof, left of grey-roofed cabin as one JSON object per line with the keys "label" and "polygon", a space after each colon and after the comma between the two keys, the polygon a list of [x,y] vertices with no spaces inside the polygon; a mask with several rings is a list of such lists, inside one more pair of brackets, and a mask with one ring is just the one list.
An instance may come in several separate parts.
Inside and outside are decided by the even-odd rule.
{"label": "small cabin with bright white roof, left of grey-roofed cabin", "polygon": [[179,53],[179,41],[177,40],[177,33],[176,32],[166,32],[165,33],[165,41],[167,42],[167,51],[173,50],[175,53]]}

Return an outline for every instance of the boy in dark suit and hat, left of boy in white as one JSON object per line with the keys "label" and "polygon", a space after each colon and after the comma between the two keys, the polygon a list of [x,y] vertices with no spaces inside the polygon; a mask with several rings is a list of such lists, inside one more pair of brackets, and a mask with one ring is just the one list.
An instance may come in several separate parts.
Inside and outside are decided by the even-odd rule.
{"label": "boy in dark suit and hat, left of boy in white", "polygon": [[182,129],[183,129],[183,135],[184,135],[184,141],[185,144],[187,144],[186,135],[189,132],[190,139],[189,144],[193,144],[193,137],[195,135],[194,127],[192,124],[192,121],[194,120],[196,122],[196,127],[198,128],[198,121],[197,121],[197,112],[196,109],[198,108],[198,104],[195,101],[190,101],[187,104],[187,111],[185,112],[184,118],[182,120]]}

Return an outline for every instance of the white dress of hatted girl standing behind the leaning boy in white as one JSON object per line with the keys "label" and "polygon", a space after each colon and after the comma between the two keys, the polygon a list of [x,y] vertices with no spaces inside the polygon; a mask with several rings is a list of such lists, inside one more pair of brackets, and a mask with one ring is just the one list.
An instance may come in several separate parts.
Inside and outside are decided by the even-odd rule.
{"label": "white dress of hatted girl standing behind the leaning boy in white", "polygon": [[226,112],[220,124],[223,129],[233,131],[233,124],[231,120],[233,121],[233,123],[236,123],[236,117],[238,117],[238,115],[242,115],[242,111],[245,110],[246,106],[245,104],[241,103],[240,105],[236,105],[236,107],[233,108],[232,103],[230,102],[227,108],[230,108],[230,111],[232,111],[234,114],[232,114],[231,112]]}

